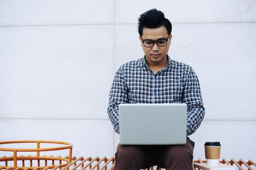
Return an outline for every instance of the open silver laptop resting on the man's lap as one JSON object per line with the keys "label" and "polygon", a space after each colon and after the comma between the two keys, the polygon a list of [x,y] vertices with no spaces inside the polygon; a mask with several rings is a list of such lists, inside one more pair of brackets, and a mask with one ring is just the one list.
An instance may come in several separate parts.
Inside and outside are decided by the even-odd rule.
{"label": "open silver laptop resting on the man's lap", "polygon": [[120,144],[186,144],[186,120],[187,105],[184,103],[120,104]]}

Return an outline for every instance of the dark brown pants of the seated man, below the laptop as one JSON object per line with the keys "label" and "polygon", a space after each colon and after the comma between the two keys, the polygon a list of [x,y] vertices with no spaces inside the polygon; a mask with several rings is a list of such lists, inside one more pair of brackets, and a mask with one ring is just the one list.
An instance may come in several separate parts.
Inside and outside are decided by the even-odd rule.
{"label": "dark brown pants of the seated man, below the laptop", "polygon": [[193,170],[195,143],[185,145],[121,145],[115,154],[115,170],[140,170],[159,166],[166,170]]}

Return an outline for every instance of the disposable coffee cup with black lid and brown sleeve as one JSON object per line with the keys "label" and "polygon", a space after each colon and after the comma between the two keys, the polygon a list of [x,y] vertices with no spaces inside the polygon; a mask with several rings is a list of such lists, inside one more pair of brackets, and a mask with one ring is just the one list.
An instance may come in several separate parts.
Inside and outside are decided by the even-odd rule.
{"label": "disposable coffee cup with black lid and brown sleeve", "polygon": [[204,151],[208,166],[218,166],[220,159],[220,142],[205,142]]}

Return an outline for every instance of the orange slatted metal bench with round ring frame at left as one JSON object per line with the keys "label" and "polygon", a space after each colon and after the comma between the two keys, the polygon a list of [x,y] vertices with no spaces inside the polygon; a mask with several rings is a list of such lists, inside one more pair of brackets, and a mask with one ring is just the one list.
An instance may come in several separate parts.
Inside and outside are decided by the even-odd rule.
{"label": "orange slatted metal bench with round ring frame at left", "polygon": [[[36,143],[37,147],[32,149],[20,149],[20,148],[0,148],[0,151],[9,151],[12,152],[13,155],[10,157],[0,157],[0,170],[114,170],[115,168],[115,159],[114,157],[72,157],[72,147],[73,145],[67,142],[57,142],[57,141],[8,141],[8,142],[0,142],[1,144],[15,144],[15,143]],[[55,148],[40,148],[41,143],[50,143],[50,144],[62,144],[65,146],[55,147]],[[40,155],[42,151],[54,151],[54,150],[65,150],[68,149],[68,155],[65,157],[57,156],[54,157]],[[27,155],[18,155],[18,152],[35,152],[35,156]],[[34,164],[36,161],[36,166]],[[127,160],[129,161],[129,160]],[[49,163],[50,162],[50,163]],[[193,163],[205,163],[206,160],[194,160]],[[231,159],[227,161],[227,159],[223,158],[220,163],[224,163],[227,165],[234,165],[238,167],[239,170],[256,170],[256,163],[249,159],[248,161],[244,161],[243,159],[239,159],[236,161],[235,159]],[[26,166],[26,165],[29,166]],[[11,166],[13,165],[13,166]],[[21,165],[21,166],[17,166]],[[195,166],[194,170],[200,170]],[[156,167],[150,167],[148,170],[153,170]],[[145,169],[144,169],[145,170]],[[159,168],[161,170],[161,168]]]}

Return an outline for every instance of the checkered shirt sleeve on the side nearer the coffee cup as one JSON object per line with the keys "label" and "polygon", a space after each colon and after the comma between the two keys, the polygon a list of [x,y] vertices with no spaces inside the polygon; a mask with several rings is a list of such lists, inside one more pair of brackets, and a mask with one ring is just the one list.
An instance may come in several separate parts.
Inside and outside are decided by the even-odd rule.
{"label": "checkered shirt sleeve on the side nearer the coffee cup", "polygon": [[205,113],[198,77],[192,68],[185,81],[183,102],[188,106],[186,135],[189,136],[198,129]]}

